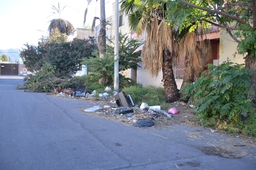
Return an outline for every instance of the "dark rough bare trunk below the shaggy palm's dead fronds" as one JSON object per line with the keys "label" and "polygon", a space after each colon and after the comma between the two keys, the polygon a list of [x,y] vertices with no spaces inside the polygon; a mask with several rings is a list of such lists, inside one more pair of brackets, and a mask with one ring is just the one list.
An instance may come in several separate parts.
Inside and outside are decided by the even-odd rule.
{"label": "dark rough bare trunk below the shaggy palm's dead fronds", "polygon": [[163,87],[165,88],[165,97],[167,102],[175,102],[180,98],[173,74],[172,64],[170,51],[163,50]]}

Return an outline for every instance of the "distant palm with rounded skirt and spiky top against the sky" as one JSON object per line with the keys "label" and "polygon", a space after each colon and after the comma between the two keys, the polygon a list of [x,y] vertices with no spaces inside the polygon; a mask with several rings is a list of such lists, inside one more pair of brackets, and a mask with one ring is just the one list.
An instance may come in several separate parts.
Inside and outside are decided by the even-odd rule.
{"label": "distant palm with rounded skirt and spiky top against the sky", "polygon": [[48,27],[48,32],[53,33],[55,29],[60,30],[61,33],[69,35],[73,30],[74,27],[68,20],[62,19],[61,14],[62,11],[65,9],[65,6],[60,9],[60,3],[58,2],[58,8],[55,6],[52,6],[53,14],[57,14],[59,16],[58,19],[52,19],[50,20],[50,25]]}

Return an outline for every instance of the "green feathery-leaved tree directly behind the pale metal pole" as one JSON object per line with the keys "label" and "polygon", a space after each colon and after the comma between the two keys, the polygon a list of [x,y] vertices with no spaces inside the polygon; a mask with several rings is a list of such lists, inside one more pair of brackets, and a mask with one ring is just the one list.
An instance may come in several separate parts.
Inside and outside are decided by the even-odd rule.
{"label": "green feathery-leaved tree directly behind the pale metal pole", "polygon": [[[135,49],[140,45],[138,40],[129,40],[127,35],[119,35],[119,80],[120,87],[130,86],[134,82],[131,79],[122,76],[122,71],[133,68],[137,69],[137,63],[140,61],[140,51],[134,53]],[[88,75],[88,82],[96,82],[99,79],[103,80],[106,86],[112,86],[114,83],[114,43],[107,45],[106,55],[104,58],[97,56],[96,58],[89,58],[84,61],[88,66],[90,74]]]}

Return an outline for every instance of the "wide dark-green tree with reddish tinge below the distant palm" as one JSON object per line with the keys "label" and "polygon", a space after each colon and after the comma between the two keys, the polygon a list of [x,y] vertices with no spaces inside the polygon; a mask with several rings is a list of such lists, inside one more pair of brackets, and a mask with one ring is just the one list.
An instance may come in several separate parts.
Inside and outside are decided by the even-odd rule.
{"label": "wide dark-green tree with reddish tinge below the distant palm", "polygon": [[30,70],[39,71],[48,63],[55,66],[60,75],[71,75],[79,69],[81,59],[92,56],[96,49],[93,37],[83,40],[75,38],[65,43],[65,38],[53,37],[55,34],[39,42],[37,46],[27,44],[22,49],[20,56]]}

